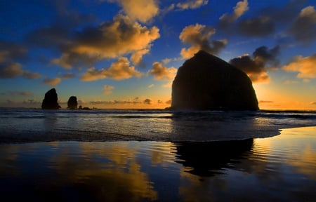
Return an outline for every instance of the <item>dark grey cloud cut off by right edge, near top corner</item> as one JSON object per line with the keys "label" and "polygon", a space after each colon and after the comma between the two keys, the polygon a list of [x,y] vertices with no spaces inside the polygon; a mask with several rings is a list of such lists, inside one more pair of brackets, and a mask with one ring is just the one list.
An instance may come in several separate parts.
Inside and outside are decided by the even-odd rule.
{"label": "dark grey cloud cut off by right edge, near top corner", "polygon": [[289,32],[297,41],[308,43],[316,40],[316,11],[313,6],[301,10],[298,17],[291,25]]}

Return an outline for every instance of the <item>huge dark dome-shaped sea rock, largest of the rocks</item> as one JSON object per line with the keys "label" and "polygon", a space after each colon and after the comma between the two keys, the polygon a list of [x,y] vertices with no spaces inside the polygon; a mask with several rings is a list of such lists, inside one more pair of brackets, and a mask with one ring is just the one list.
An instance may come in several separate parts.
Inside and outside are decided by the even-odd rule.
{"label": "huge dark dome-shaped sea rock, largest of the rocks", "polygon": [[179,67],[172,83],[174,110],[258,110],[249,77],[204,50]]}

